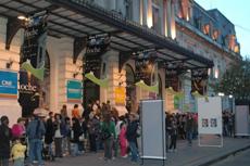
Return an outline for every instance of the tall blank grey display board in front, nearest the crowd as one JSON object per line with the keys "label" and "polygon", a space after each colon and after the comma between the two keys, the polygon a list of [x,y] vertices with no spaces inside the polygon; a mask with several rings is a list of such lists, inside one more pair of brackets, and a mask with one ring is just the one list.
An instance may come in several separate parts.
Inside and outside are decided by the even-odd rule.
{"label": "tall blank grey display board in front, nearest the crowd", "polygon": [[165,159],[165,113],[162,100],[142,100],[141,115],[141,158]]}

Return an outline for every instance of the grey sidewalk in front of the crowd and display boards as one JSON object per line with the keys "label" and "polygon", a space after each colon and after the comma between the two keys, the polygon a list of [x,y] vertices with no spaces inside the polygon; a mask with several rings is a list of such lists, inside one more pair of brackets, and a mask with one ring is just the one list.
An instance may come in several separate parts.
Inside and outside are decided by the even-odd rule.
{"label": "grey sidewalk in front of the crowd and display boards", "polygon": [[[192,146],[189,146],[186,141],[178,141],[176,153],[167,153],[167,166],[205,166],[215,161],[222,159],[227,155],[250,148],[250,139],[224,139],[223,148],[200,148],[198,142],[193,141]],[[115,158],[111,162],[102,159],[102,153],[86,153],[78,157],[64,157],[55,162],[47,163],[47,166],[129,166],[135,165],[128,158]],[[140,163],[139,163],[140,164]],[[138,165],[139,165],[138,164]],[[146,164],[146,166],[157,166],[162,163]]]}

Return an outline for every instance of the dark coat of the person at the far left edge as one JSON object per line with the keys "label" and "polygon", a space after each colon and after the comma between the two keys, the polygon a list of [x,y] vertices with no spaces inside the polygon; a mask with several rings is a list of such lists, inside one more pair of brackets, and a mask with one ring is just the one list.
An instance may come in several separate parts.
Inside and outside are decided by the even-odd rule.
{"label": "dark coat of the person at the far left edge", "polygon": [[10,158],[11,129],[0,125],[0,158]]}

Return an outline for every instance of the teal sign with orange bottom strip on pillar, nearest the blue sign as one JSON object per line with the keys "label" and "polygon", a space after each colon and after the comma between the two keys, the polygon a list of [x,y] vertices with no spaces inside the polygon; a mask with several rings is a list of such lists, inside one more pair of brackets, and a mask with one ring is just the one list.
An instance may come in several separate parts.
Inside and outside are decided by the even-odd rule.
{"label": "teal sign with orange bottom strip on pillar, nearest the blue sign", "polygon": [[79,80],[67,80],[67,101],[82,103],[83,84]]}

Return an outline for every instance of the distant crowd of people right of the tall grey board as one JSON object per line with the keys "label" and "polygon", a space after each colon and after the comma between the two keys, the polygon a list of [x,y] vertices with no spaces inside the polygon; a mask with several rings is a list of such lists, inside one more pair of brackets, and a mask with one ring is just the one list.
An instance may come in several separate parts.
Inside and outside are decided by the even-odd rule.
{"label": "distant crowd of people right of the tall grey board", "polygon": [[[168,152],[176,152],[177,140],[187,140],[191,145],[192,140],[198,138],[198,114],[168,114],[166,113],[166,149]],[[222,115],[223,136],[235,137],[235,116],[225,111]],[[170,138],[170,141],[168,141]]]}

